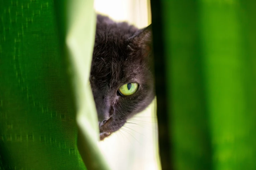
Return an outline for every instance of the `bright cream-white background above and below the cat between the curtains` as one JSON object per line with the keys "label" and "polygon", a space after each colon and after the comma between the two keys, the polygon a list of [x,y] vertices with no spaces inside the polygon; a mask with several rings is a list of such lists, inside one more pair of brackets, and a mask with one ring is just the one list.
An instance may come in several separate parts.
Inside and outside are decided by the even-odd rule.
{"label": "bright cream-white background above and below the cat between the curtains", "polygon": [[[148,0],[94,0],[94,9],[114,21],[127,21],[138,28],[151,23]],[[156,101],[98,145],[112,170],[160,169]]]}

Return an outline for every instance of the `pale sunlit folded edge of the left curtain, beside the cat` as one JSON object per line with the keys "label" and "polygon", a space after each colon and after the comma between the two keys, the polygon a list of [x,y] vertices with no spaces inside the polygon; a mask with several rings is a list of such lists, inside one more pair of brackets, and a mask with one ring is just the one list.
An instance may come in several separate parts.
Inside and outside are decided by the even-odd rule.
{"label": "pale sunlit folded edge of the left curtain, beside the cat", "polygon": [[[96,14],[93,0],[55,0],[61,55],[66,57],[76,105],[77,148],[88,169],[108,170],[99,147],[97,111],[89,76],[94,47]],[[86,16],[86,17],[85,17]]]}

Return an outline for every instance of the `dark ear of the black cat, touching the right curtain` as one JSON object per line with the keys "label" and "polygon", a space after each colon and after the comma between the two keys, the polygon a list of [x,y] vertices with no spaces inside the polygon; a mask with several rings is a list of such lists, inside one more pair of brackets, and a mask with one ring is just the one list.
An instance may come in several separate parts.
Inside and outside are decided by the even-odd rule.
{"label": "dark ear of the black cat, touching the right curtain", "polygon": [[152,24],[140,29],[129,39],[132,39],[134,45],[142,49],[143,55],[146,57],[152,51]]}

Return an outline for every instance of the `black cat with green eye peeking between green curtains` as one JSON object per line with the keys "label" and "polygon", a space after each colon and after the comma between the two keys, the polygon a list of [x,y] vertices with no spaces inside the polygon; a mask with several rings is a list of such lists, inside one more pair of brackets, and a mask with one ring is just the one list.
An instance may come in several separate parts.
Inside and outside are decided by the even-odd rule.
{"label": "black cat with green eye peeking between green curtains", "polygon": [[138,29],[97,15],[90,82],[100,140],[154,99],[151,25]]}

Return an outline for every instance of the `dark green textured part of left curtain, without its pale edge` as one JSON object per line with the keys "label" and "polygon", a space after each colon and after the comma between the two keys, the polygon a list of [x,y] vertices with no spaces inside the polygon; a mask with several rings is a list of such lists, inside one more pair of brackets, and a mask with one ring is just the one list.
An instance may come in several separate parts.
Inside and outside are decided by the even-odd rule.
{"label": "dark green textured part of left curtain, without its pale edge", "polygon": [[52,0],[0,0],[0,169],[86,169]]}

